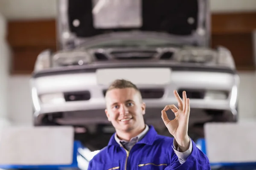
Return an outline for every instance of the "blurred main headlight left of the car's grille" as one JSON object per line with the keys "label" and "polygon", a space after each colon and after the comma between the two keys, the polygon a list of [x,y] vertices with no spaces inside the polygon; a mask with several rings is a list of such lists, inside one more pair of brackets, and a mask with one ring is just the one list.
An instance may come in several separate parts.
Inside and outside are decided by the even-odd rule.
{"label": "blurred main headlight left of the car's grille", "polygon": [[53,66],[84,65],[92,61],[85,51],[61,51],[53,56]]}

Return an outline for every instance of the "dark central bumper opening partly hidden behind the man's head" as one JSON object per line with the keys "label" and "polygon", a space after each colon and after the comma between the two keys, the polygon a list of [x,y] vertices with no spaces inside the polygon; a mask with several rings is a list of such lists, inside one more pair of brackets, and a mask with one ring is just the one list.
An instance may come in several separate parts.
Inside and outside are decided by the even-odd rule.
{"label": "dark central bumper opening partly hidden behind the man's head", "polygon": [[[103,90],[103,95],[106,95],[107,90]],[[140,89],[140,93],[143,99],[160,99],[163,97],[164,89]]]}

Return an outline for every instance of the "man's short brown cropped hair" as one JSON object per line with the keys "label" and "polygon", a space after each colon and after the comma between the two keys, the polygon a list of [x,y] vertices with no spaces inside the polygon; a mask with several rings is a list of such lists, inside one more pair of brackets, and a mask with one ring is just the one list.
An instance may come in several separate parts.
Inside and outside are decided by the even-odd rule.
{"label": "man's short brown cropped hair", "polygon": [[[116,79],[115,81],[113,81],[111,83],[111,85],[108,87],[108,90],[106,91],[106,94],[108,91],[112,90],[112,89],[122,89],[122,88],[134,88],[141,97],[141,93],[140,90],[137,88],[136,85],[134,85],[134,83],[132,83],[129,80],[125,80],[125,79]],[[142,98],[142,97],[141,97]]]}

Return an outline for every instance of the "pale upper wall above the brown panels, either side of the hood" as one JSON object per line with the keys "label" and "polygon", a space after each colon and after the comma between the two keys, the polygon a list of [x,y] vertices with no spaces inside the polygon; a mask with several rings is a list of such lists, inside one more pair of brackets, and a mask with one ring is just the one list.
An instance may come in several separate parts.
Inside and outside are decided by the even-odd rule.
{"label": "pale upper wall above the brown panels, either side of the hood", "polygon": [[[55,18],[57,0],[0,0],[9,20]],[[256,0],[209,0],[212,12],[256,11]],[[29,9],[29,10],[28,10]]]}

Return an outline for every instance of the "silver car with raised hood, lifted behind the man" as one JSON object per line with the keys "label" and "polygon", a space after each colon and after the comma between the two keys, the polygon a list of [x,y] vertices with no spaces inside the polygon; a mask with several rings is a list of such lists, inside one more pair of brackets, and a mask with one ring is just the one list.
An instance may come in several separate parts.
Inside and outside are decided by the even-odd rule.
{"label": "silver car with raised hood, lifted behind the man", "polygon": [[104,110],[115,79],[138,86],[145,122],[161,134],[161,110],[177,105],[174,90],[190,99],[193,139],[205,122],[238,120],[239,76],[231,52],[210,47],[208,0],[139,2],[59,1],[58,50],[38,55],[30,80],[35,126],[113,133]]}

